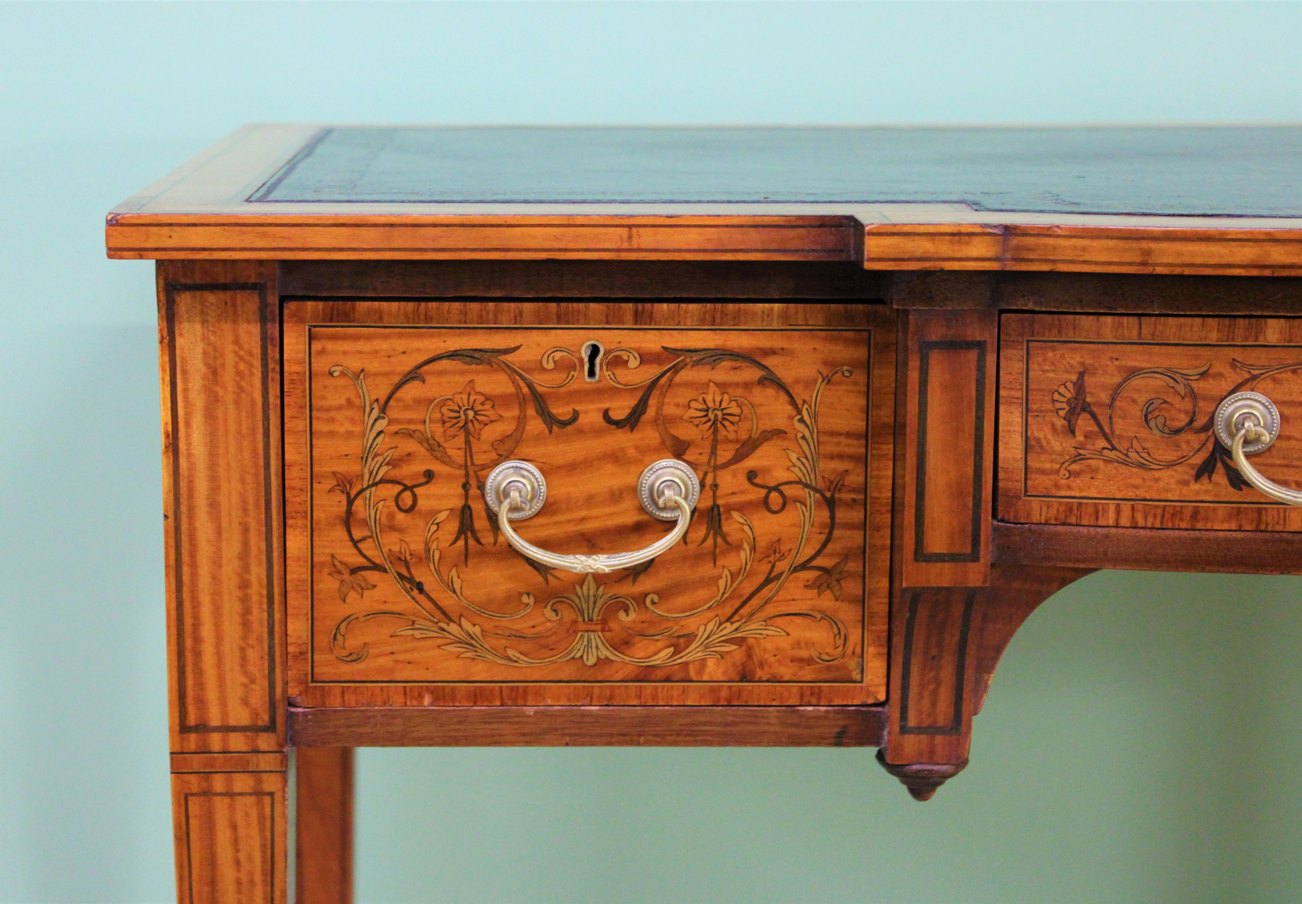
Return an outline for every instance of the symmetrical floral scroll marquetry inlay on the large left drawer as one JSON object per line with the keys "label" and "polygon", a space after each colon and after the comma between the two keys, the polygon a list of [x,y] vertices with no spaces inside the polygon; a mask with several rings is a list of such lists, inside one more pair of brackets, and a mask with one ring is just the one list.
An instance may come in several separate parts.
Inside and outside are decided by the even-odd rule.
{"label": "symmetrical floral scroll marquetry inlay on the large left drawer", "polygon": [[[643,418],[650,416],[660,442],[680,459],[693,441],[673,432],[671,418],[690,425],[699,441],[708,441],[703,462],[695,466],[703,486],[711,493],[708,503],[702,499],[704,518],[698,515],[695,519],[703,523],[695,545],[711,542],[719,568],[716,592],[703,602],[682,606],[661,601],[656,593],[644,593],[638,600],[629,592],[615,589],[625,580],[635,584],[652,565],[644,563],[622,575],[611,575],[603,584],[587,575],[572,591],[555,593],[540,604],[531,593],[522,593],[518,606],[503,611],[508,607],[477,601],[477,589],[482,593],[491,588],[473,587],[461,571],[470,563],[471,544],[484,546],[499,542],[496,519],[487,511],[482,496],[483,477],[499,463],[521,454],[526,423],[534,418],[548,433],[564,431],[579,418],[577,410],[568,416],[557,415],[547,395],[548,390],[564,389],[574,381],[578,358],[566,349],[548,350],[540,362],[544,369],[555,369],[559,362],[568,362],[570,371],[556,382],[542,382],[510,359],[517,350],[518,346],[441,352],[411,367],[383,398],[371,395],[365,371],[354,372],[342,364],[329,368],[332,376],[346,376],[357,389],[361,403],[361,468],[355,476],[335,473],[332,492],[339,492],[344,501],[342,536],[350,552],[329,554],[328,575],[339,584],[342,604],[365,605],[367,594],[376,589],[375,576],[383,576],[397,588],[409,607],[363,609],[341,618],[331,636],[331,648],[340,661],[361,662],[367,658],[368,645],[354,643],[350,630],[376,619],[400,622],[389,630],[393,637],[430,640],[457,657],[512,667],[570,661],[590,667],[600,661],[671,667],[719,659],[740,649],[742,640],[788,636],[781,622],[792,618],[806,619],[825,630],[825,643],[807,650],[811,662],[831,663],[845,656],[849,644],[845,626],[827,611],[792,607],[784,602],[783,591],[792,578],[805,575],[794,587],[803,585],[815,597],[829,594],[840,601],[842,581],[853,572],[849,554],[835,562],[823,561],[837,529],[837,493],[844,485],[845,472],[823,473],[819,449],[819,410],[824,393],[835,380],[852,376],[849,367],[816,373],[809,397],[802,399],[766,364],[734,351],[664,347],[663,351],[672,355],[671,363],[633,382],[612,373],[609,364],[621,360],[633,371],[641,364],[639,352],[626,347],[607,351],[602,372],[608,382],[641,392],[622,416],[615,416],[607,408],[604,423],[615,431],[631,432]],[[493,398],[471,379],[460,392],[432,393],[435,398],[428,405],[421,402],[426,411],[423,424],[392,431],[391,438],[391,402],[398,393],[410,392],[408,388],[426,384],[428,372],[440,363],[492,368],[509,381],[516,405],[503,410],[501,394]],[[786,427],[762,429],[755,405],[720,389],[715,380],[708,380],[706,388],[685,403],[676,403],[682,405],[677,411],[667,408],[669,389],[681,375],[693,368],[713,369],[725,363],[734,369],[750,368],[758,375],[759,385],[779,392],[790,411]],[[514,427],[508,420],[512,411],[516,411]],[[504,431],[505,434],[492,438]],[[763,481],[755,470],[745,475],[746,485],[756,490],[753,498],[758,502],[754,505],[760,506],[763,512],[779,516],[794,505],[798,515],[784,522],[796,522],[794,533],[773,538],[768,552],[756,557],[756,525],[742,511],[724,510],[719,475],[747,460],[767,444],[788,436],[792,440],[784,451],[790,479]],[[423,471],[423,480],[409,483],[392,476],[392,459],[398,449],[392,445],[395,441],[413,442],[430,455],[432,464]],[[452,509],[428,515],[419,548],[405,538],[396,542],[387,538],[381,516],[385,507],[391,506],[402,515],[414,514],[423,488],[441,472],[456,475],[461,488],[461,503],[453,506],[457,514],[450,538]],[[819,511],[822,515],[818,515]],[[483,522],[479,522],[480,516]],[[365,532],[357,527],[359,520],[365,520]],[[732,536],[725,533],[725,523]],[[491,540],[480,533],[478,524],[488,525]],[[717,561],[720,541],[736,548],[729,554],[732,561],[723,566]],[[447,553],[457,546],[460,563],[453,563]],[[518,555],[514,550],[512,553]],[[544,581],[559,579],[549,568],[527,558],[525,562]],[[681,624],[684,619],[698,617],[704,620],[694,628]],[[647,618],[659,620],[660,627],[647,630]],[[536,627],[539,619],[542,628]],[[574,635],[573,640],[557,646],[556,641],[566,637],[566,632]],[[542,641],[547,641],[547,649],[531,653],[530,648]]]}

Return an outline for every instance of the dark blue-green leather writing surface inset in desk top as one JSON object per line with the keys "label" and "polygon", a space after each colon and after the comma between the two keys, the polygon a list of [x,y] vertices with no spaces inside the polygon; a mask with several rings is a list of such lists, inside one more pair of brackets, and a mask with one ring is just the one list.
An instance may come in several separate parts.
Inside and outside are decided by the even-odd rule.
{"label": "dark blue-green leather writing surface inset in desk top", "polygon": [[336,127],[250,200],[1302,216],[1302,126]]}

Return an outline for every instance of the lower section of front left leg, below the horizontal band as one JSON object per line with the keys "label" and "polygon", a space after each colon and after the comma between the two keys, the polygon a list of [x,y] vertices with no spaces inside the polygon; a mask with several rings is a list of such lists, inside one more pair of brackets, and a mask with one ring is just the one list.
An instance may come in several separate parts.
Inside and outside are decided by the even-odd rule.
{"label": "lower section of front left leg, below the horizontal band", "polygon": [[177,900],[286,904],[285,774],[172,775]]}

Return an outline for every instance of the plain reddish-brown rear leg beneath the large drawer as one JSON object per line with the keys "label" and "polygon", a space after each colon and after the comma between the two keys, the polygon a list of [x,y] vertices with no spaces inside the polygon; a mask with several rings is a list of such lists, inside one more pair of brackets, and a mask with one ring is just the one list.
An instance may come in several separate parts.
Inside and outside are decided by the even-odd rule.
{"label": "plain reddish-brown rear leg beneath the large drawer", "polygon": [[353,748],[302,747],[294,770],[296,904],[352,904]]}

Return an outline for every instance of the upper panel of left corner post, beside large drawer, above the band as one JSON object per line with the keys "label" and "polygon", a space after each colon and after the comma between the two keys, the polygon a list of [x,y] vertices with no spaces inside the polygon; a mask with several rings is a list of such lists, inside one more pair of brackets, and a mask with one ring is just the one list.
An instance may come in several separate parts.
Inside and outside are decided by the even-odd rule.
{"label": "upper panel of left corner post, beside large drawer, above the band", "polygon": [[159,267],[172,749],[284,745],[275,268]]}

